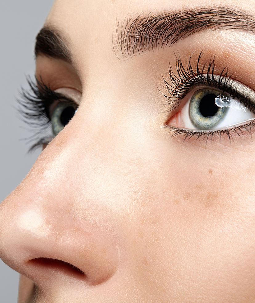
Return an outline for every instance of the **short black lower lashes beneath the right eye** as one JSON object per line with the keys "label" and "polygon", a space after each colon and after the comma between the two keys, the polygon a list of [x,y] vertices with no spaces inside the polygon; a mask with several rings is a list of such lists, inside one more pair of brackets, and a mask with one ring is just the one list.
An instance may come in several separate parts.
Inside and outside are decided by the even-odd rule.
{"label": "short black lower lashes beneath the right eye", "polygon": [[229,142],[235,141],[235,137],[241,138],[245,136],[245,133],[248,133],[252,138],[252,131],[255,129],[255,119],[248,124],[234,126],[231,129],[216,130],[216,131],[193,131],[189,129],[179,129],[177,127],[165,126],[169,130],[170,137],[180,136],[183,138],[183,143],[195,139],[195,141],[205,142],[205,145],[208,144],[208,141],[211,141],[215,136],[220,137],[220,140],[223,136],[229,139]]}

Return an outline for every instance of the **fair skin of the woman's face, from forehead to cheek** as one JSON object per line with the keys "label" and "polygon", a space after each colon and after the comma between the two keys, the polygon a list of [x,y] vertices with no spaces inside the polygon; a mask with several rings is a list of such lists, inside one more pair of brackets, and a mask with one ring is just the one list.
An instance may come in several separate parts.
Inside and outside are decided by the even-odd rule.
{"label": "fair skin of the woman's face, from forehead to cheek", "polygon": [[213,85],[177,100],[169,74],[203,52],[200,71],[215,57],[253,104],[254,16],[253,1],[55,1],[45,26],[66,53],[39,48],[36,73],[79,109],[1,204],[19,303],[255,302],[254,125],[185,132],[185,104]]}

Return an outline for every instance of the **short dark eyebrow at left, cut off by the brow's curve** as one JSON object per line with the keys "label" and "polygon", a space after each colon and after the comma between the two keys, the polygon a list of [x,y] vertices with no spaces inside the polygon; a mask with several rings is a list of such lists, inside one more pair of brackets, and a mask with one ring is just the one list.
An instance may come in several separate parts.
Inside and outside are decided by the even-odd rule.
{"label": "short dark eyebrow at left, cut off by the brow's curve", "polygon": [[43,27],[36,36],[34,53],[44,54],[71,63],[71,55],[63,35],[50,27]]}

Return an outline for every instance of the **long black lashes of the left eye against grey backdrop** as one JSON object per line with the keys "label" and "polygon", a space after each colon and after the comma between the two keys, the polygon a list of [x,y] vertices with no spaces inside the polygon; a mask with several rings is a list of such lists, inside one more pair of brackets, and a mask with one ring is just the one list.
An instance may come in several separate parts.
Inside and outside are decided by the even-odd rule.
{"label": "long black lashes of the left eye against grey backdrop", "polygon": [[18,99],[19,113],[21,113],[22,121],[29,125],[33,131],[33,135],[26,138],[28,143],[31,141],[37,141],[33,144],[29,152],[35,148],[41,146],[45,142],[49,141],[50,136],[38,137],[42,132],[46,131],[50,125],[50,114],[49,106],[55,100],[66,100],[70,102],[66,96],[54,92],[51,90],[50,86],[43,83],[42,79],[40,81],[35,77],[35,81],[27,77],[27,82],[29,84],[30,90],[21,90],[21,99]]}

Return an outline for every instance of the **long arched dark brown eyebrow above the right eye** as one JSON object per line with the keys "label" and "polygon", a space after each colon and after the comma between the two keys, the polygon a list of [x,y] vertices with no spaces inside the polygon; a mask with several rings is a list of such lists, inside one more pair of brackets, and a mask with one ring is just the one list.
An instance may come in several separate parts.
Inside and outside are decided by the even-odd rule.
{"label": "long arched dark brown eyebrow above the right eye", "polygon": [[[135,55],[155,47],[173,45],[180,39],[204,31],[218,28],[235,29],[255,33],[255,19],[242,10],[226,7],[196,8],[182,11],[163,11],[140,14],[118,22],[114,51]],[[233,41],[234,43],[234,41]]]}

